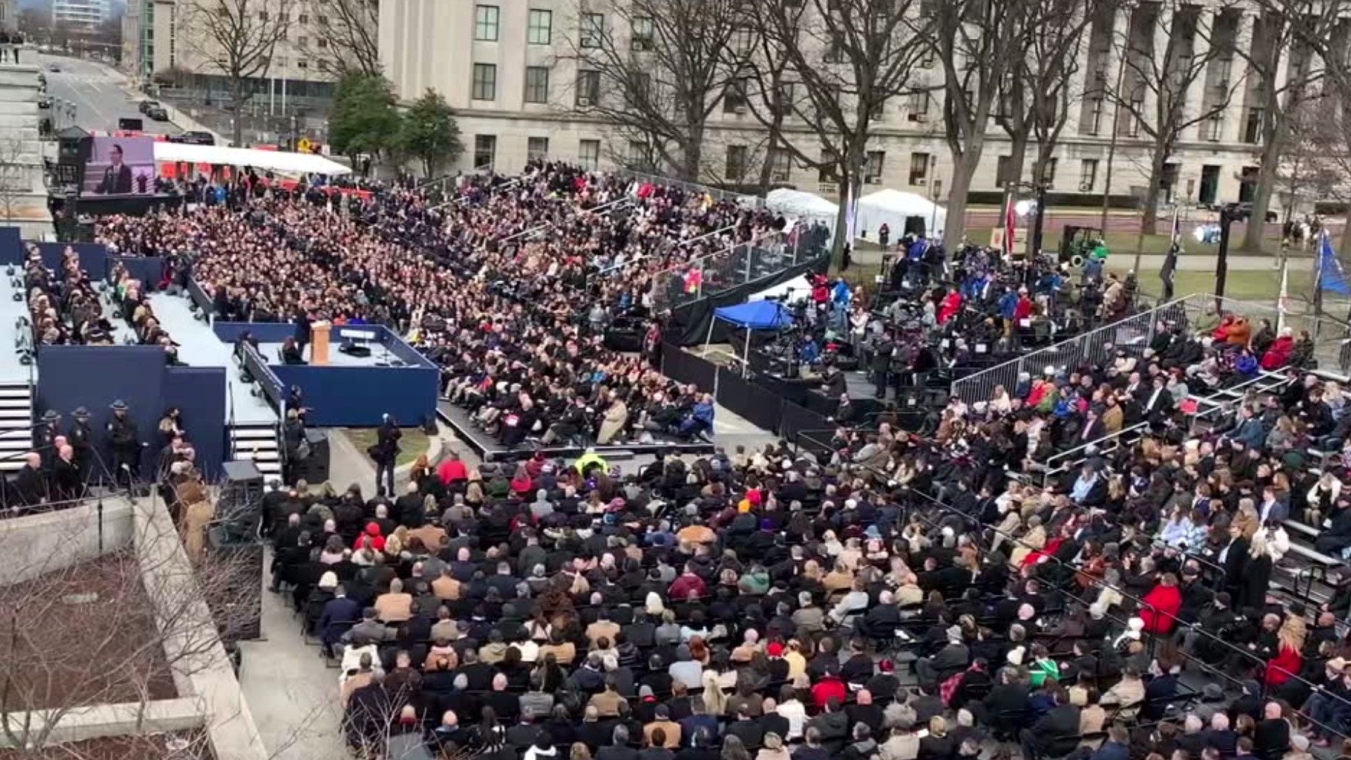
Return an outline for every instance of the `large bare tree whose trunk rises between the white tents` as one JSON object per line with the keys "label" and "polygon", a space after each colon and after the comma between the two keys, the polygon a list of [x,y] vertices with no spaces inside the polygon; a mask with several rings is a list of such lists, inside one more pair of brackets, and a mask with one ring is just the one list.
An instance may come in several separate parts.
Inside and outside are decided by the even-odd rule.
{"label": "large bare tree whose trunk rises between the white tents", "polygon": [[[915,74],[927,50],[919,0],[751,0],[761,35],[747,62],[757,119],[771,131],[769,160],[786,151],[839,184],[832,256],[848,241],[869,139],[886,107],[931,88]],[[808,153],[807,141],[819,149]]]}

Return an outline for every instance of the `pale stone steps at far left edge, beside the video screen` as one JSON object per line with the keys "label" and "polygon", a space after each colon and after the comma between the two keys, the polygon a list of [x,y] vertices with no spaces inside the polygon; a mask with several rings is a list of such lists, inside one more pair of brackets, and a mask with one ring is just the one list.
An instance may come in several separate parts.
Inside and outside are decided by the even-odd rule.
{"label": "pale stone steps at far left edge, beside the video screen", "polygon": [[0,224],[24,239],[51,237],[38,138],[38,66],[0,65]]}

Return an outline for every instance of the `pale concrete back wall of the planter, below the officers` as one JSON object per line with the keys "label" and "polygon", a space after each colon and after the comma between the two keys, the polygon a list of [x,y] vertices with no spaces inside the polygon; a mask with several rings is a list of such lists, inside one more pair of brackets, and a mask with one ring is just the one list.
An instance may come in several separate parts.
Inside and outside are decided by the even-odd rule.
{"label": "pale concrete back wall of the planter, below the officers", "polygon": [[132,542],[131,504],[103,500],[100,548],[97,503],[0,521],[0,584],[20,583],[86,563]]}

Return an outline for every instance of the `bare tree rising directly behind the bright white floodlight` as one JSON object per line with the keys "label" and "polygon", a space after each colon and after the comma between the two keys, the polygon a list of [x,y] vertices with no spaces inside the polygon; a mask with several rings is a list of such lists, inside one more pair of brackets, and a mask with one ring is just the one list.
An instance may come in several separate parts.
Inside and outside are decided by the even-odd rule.
{"label": "bare tree rising directly behind the bright white floodlight", "polygon": [[1047,0],[1040,4],[1019,3],[1017,14],[1028,14],[1019,22],[1031,30],[1027,47],[1000,87],[1000,107],[994,120],[1012,142],[1008,180],[1023,177],[1027,149],[1036,145],[1032,162],[1032,181],[1042,183],[1051,162],[1066,122],[1070,104],[1082,97],[1074,80],[1079,70],[1079,53],[1085,46],[1085,30],[1094,18],[1096,3],[1077,0]]}

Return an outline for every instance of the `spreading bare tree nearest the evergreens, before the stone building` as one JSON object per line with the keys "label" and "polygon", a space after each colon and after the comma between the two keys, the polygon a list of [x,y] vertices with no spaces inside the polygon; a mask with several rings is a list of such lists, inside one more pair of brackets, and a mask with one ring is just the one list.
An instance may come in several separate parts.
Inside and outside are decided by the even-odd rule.
{"label": "spreading bare tree nearest the evergreens, before the stone building", "polygon": [[740,8],[739,0],[627,0],[608,14],[582,12],[578,32],[565,35],[562,58],[577,66],[567,108],[698,180],[709,116],[736,81]]}

